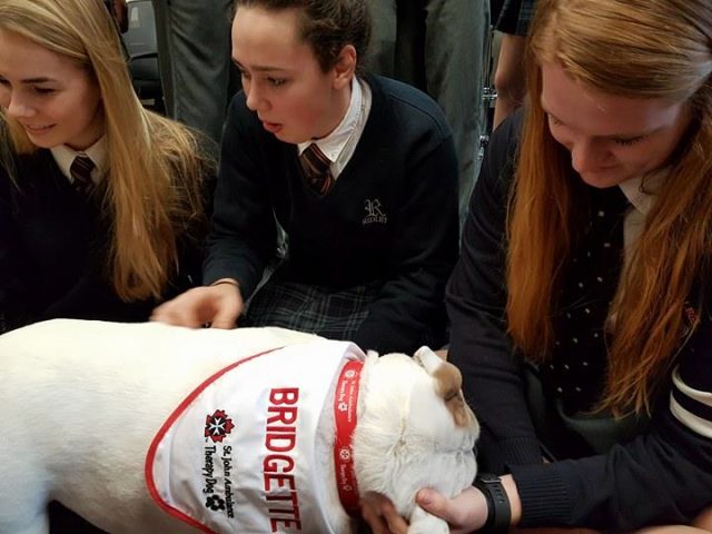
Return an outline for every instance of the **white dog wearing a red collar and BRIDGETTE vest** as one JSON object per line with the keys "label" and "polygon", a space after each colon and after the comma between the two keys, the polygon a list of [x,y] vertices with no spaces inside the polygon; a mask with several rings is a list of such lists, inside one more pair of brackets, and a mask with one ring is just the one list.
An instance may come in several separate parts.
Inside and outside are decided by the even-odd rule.
{"label": "white dog wearing a red collar and BRIDGETTE vest", "polygon": [[476,474],[459,373],[426,347],[57,319],[0,336],[0,377],[1,534],[49,532],[52,500],[110,533],[348,533],[366,492],[447,533],[415,494]]}

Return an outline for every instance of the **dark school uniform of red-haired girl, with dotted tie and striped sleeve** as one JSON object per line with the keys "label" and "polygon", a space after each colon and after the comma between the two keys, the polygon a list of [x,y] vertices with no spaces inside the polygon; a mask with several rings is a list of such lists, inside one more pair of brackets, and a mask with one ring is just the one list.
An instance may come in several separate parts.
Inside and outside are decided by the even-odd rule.
{"label": "dark school uniform of red-haired girl, with dotted tie and striped sleeve", "polygon": [[[581,184],[587,221],[565,267],[551,358],[532,369],[514,353],[505,316],[506,206],[521,122],[516,112],[491,140],[447,288],[449,360],[462,369],[465,397],[482,423],[481,471],[512,473],[520,526],[624,532],[688,523],[712,503],[712,298],[690,295],[703,313],[694,334],[681,337],[650,419],[589,415],[605,380],[609,303],[654,198],[635,180],[607,189]],[[532,373],[542,389],[535,402]],[[542,398],[550,426],[536,413]],[[544,464],[552,447],[556,459],[585,458]]]}

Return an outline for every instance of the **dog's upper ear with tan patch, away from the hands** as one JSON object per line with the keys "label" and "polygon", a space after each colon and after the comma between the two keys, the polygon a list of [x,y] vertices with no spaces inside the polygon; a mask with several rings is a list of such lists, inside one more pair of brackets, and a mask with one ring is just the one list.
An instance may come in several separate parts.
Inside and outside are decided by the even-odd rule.
{"label": "dog's upper ear with tan patch, away from the hands", "polygon": [[421,347],[413,355],[421,366],[435,382],[435,390],[445,400],[445,406],[453,414],[457,426],[468,426],[473,423],[473,415],[463,397],[463,375],[453,364],[445,362],[442,356],[428,347]]}

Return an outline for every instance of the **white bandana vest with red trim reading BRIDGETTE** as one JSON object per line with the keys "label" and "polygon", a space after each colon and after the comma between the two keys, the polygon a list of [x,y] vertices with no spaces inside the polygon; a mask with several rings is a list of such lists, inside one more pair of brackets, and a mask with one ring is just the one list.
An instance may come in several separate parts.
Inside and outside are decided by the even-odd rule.
{"label": "white bandana vest with red trim reading BRIDGETTE", "polygon": [[[198,386],[146,458],[154,500],[206,533],[332,533],[315,436],[334,378],[364,360],[348,342],[258,354]],[[323,461],[322,461],[323,462]]]}

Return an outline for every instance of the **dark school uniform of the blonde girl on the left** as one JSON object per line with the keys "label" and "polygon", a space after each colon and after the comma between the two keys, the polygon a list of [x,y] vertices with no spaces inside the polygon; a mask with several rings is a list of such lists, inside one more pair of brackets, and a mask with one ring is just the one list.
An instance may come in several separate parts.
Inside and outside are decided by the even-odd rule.
{"label": "dark school uniform of the blonde girl on the left", "polygon": [[[82,152],[95,165],[88,194],[72,184],[77,152],[68,147],[8,156],[0,165],[0,332],[55,317],[147,320],[158,304],[123,301],[109,281],[105,144]],[[201,260],[201,246],[180,241],[165,298],[199,283]]]}

